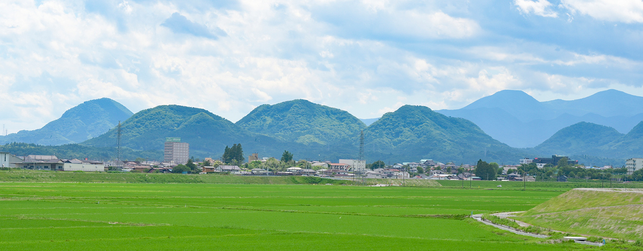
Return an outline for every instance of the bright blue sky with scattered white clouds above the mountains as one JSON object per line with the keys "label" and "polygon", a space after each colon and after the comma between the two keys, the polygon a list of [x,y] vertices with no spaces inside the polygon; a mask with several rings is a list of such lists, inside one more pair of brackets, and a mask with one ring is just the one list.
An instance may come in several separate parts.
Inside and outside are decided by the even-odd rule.
{"label": "bright blue sky with scattered white clouds above the mountains", "polygon": [[642,0],[5,0],[0,123],[33,130],[104,97],[235,122],[294,99],[372,118],[504,89],[643,96],[642,23]]}

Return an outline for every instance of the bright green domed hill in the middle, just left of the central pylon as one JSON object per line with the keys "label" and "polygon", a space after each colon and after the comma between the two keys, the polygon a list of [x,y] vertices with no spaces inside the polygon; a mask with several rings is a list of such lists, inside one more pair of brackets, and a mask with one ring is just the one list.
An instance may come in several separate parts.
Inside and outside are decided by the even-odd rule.
{"label": "bright green domed hill in the middle, just left of the central pylon", "polygon": [[257,134],[302,144],[334,144],[353,139],[366,125],[345,110],[307,100],[261,105],[237,121]]}

